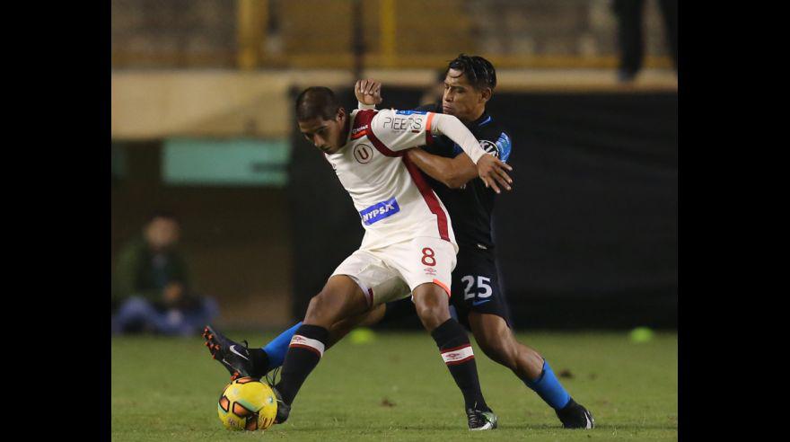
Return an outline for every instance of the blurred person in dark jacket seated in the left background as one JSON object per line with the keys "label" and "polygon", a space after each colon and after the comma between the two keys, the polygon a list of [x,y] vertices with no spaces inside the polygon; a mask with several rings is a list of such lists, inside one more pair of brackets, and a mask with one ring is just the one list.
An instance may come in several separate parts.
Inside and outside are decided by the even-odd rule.
{"label": "blurred person in dark jacket seated in the left background", "polygon": [[179,222],[157,213],[142,236],[127,243],[118,255],[112,290],[113,334],[155,332],[189,336],[203,330],[218,314],[214,299],[198,296],[189,287],[186,262],[175,245]]}

